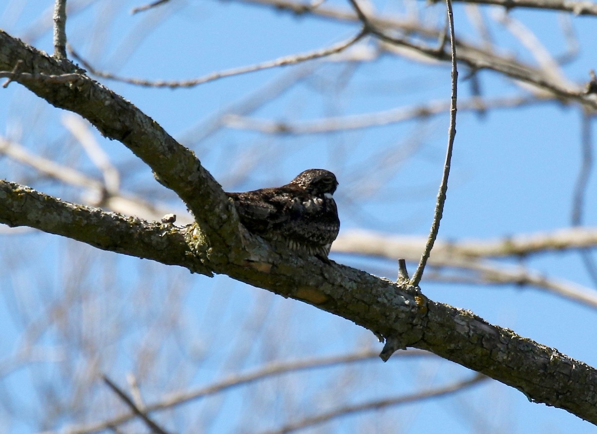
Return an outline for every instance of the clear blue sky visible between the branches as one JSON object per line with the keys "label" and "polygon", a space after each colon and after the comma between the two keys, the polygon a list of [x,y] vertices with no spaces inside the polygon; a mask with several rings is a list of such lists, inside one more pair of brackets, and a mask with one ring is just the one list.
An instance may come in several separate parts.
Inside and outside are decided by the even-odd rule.
{"label": "clear blue sky visible between the branches", "polygon": [[[51,8],[50,3],[8,2],[0,7],[0,27],[22,38],[32,35],[32,29],[42,29],[38,38],[27,42],[51,52],[50,27],[33,25],[42,11]],[[173,1],[167,7],[135,16],[129,12],[139,6],[139,2],[89,3],[82,12],[69,17],[67,35],[70,44],[99,69],[136,78],[196,78],[230,67],[327,47],[358,31],[355,24],[297,18],[242,2]],[[348,4],[341,1],[326,5],[348,8]],[[376,2],[377,10],[387,14],[403,13],[412,6]],[[425,9],[420,3],[418,7],[423,14],[430,16],[441,16],[443,11],[443,5]],[[482,10],[486,16],[491,14],[491,8]],[[473,30],[462,5],[455,5],[454,11],[457,35],[473,38]],[[511,15],[536,32],[551,52],[560,54],[564,50],[564,37],[558,30],[558,14],[513,10]],[[563,69],[569,79],[578,83],[588,80],[589,69],[595,67],[593,21],[588,17],[573,18],[581,51]],[[503,52],[531,59],[524,47],[500,26],[492,24],[491,30],[494,41]],[[371,45],[371,42],[364,41],[362,44]],[[133,48],[129,50],[131,46]],[[110,80],[103,82],[152,116],[174,137],[192,147],[225,190],[242,191],[284,184],[301,170],[327,168],[336,173],[340,182],[336,196],[342,231],[361,228],[426,235],[447,143],[447,114],[425,121],[335,134],[272,136],[223,128],[201,141],[193,139],[196,136],[192,132],[205,125],[214,114],[244,100],[247,95],[259,94],[260,89],[266,89],[272,80],[295,73],[302,67],[250,73],[190,89],[152,89]],[[466,70],[461,69],[460,77],[464,76]],[[482,94],[487,97],[520,92],[495,73],[482,72],[479,80]],[[2,89],[0,95],[3,102],[0,104],[2,135],[18,140],[31,151],[43,150],[48,157],[65,163],[73,162],[76,168],[100,176],[99,170],[85,154],[72,144],[60,123],[62,111],[48,110],[47,104],[16,83]],[[459,97],[464,100],[469,96],[470,82],[460,80]],[[450,70],[447,64],[429,66],[383,55],[371,63],[354,66],[354,70],[340,64],[319,66],[309,79],[288,89],[282,97],[264,104],[251,116],[290,122],[370,113],[429,100],[445,101],[449,97]],[[142,196],[148,185],[155,187],[150,170],[140,166],[130,151],[118,142],[101,139],[97,133],[95,135],[121,170],[125,190]],[[408,158],[381,175],[367,170],[367,162],[390,159],[393,153],[404,153]],[[237,178],[236,171],[242,168],[242,164],[251,162],[251,156],[256,159],[252,162],[253,169]],[[571,195],[579,166],[580,111],[573,105],[533,104],[515,110],[498,109],[482,117],[470,112],[458,113],[453,169],[440,237],[450,240],[494,238],[567,227],[570,225]],[[47,193],[56,192],[64,199],[79,199],[76,191],[50,185],[5,160],[0,160],[0,176],[31,184]],[[355,197],[353,192],[359,191],[363,185],[377,185],[378,190]],[[173,210],[181,210],[180,202],[172,194],[167,191],[159,194]],[[597,184],[595,176],[592,176],[584,213],[584,222],[588,226],[594,225],[597,218],[594,206],[596,194]],[[4,294],[4,299],[0,300],[0,321],[2,328],[9,332],[2,337],[0,358],[6,358],[20,339],[19,325],[10,319],[14,304],[19,303],[21,296],[35,297],[31,294],[38,294],[38,290],[30,290],[30,287],[38,288],[40,282],[47,286],[48,297],[60,299],[64,290],[61,278],[69,275],[69,263],[72,263],[73,257],[76,258],[76,253],[69,256],[69,252],[71,249],[76,251],[78,247],[73,247],[75,243],[50,235],[0,236],[4,244],[2,256],[19,258],[15,252],[20,252],[20,259],[24,262],[14,259],[18,265],[10,271],[11,279],[0,284]],[[84,252],[90,250],[93,249],[84,249]],[[27,265],[29,261],[23,252],[32,252],[35,265]],[[85,255],[93,258],[90,261],[97,266],[98,272],[103,267],[113,267],[113,278],[125,287],[127,283],[134,286],[147,271],[151,273],[152,279],[147,284],[149,307],[145,306],[147,309],[142,315],[123,312],[133,325],[135,321],[151,317],[151,312],[159,317],[160,300],[168,284],[180,281],[186,288],[185,295],[181,297],[184,300],[182,316],[188,327],[184,329],[185,339],[189,342],[197,339],[197,357],[201,359],[198,371],[189,374],[192,384],[202,384],[221,376],[223,368],[219,364],[219,356],[229,348],[226,345],[223,348],[213,346],[213,342],[225,341],[235,327],[235,317],[242,315],[247,306],[256,309],[266,299],[272,305],[271,317],[264,318],[260,327],[246,332],[246,339],[255,340],[255,348],[249,352],[244,368],[259,364],[267,351],[281,358],[297,358],[305,354],[338,354],[361,346],[380,346],[373,335],[341,318],[331,317],[300,302],[263,294],[262,290],[244,286],[227,277],[210,280],[190,276],[184,270],[172,271],[165,266],[147,265],[147,261],[113,253],[91,252]],[[373,274],[390,278],[396,274],[396,266],[390,261],[334,253],[332,258]],[[575,253],[542,254],[527,259],[525,263],[550,277],[568,279],[591,288],[594,286]],[[414,269],[414,264],[410,265],[411,268]],[[93,282],[89,284],[93,286]],[[425,281],[421,287],[431,299],[470,309],[491,323],[512,328],[522,336],[553,346],[590,365],[597,365],[595,346],[590,340],[587,343],[587,335],[592,336],[590,331],[597,326],[597,312],[593,309],[526,287],[463,286]],[[122,294],[107,291],[106,299],[94,300],[106,303],[105,309],[109,310],[109,306],[120,306],[120,297],[136,300],[138,290],[128,289]],[[153,307],[152,302],[155,303]],[[211,309],[216,309],[221,316]],[[101,312],[96,312],[96,315],[97,321],[104,321]],[[221,324],[212,330],[210,325],[216,319],[221,320]],[[267,342],[262,340],[269,336],[268,330],[273,333],[272,330],[281,327],[281,323],[284,323],[284,330],[292,334],[293,346],[268,348]],[[48,333],[40,345],[51,346],[56,342],[57,338],[52,333]],[[143,332],[131,325],[131,333],[122,343],[115,344],[122,348],[121,357],[103,367],[122,383],[127,370],[135,365],[128,357],[132,357],[129,354],[133,354],[132,348],[139,344],[142,336]],[[174,344],[168,342],[168,345]],[[42,371],[45,370],[47,377],[51,377],[54,369],[59,370],[48,364]],[[386,396],[407,392],[417,383],[413,379],[424,375],[429,375],[438,383],[466,376],[464,368],[447,361],[392,361],[385,365],[379,363],[371,367],[371,371],[368,369],[365,371],[363,368],[374,380],[360,389],[355,388],[350,400],[358,402],[370,394]],[[387,384],[380,382],[380,377],[389,379]],[[323,382],[321,375],[308,378],[304,385],[306,389],[316,389]],[[39,401],[32,391],[29,371],[17,371],[2,381],[4,395],[9,400],[18,395],[27,407],[37,413],[47,405]],[[159,392],[151,388],[147,391],[154,399],[159,398]],[[267,398],[264,396],[263,399]],[[242,408],[239,398],[228,398],[226,405],[224,408],[230,414]],[[280,410],[281,419],[282,414]],[[595,427],[563,410],[530,404],[521,393],[495,382],[460,393],[454,399],[442,398],[433,403],[396,410],[393,415],[405,421],[404,432],[412,433],[596,432]],[[0,413],[0,420],[2,417],[9,420],[14,415]],[[354,420],[361,421],[349,419]],[[26,421],[10,421],[11,424],[4,424],[8,427],[5,431],[0,428],[0,433],[30,432],[31,427]],[[73,423],[72,420],[67,422]],[[226,416],[220,415],[214,421],[213,432],[229,430],[230,423]],[[57,426],[61,426],[60,423]],[[343,432],[346,428],[342,423],[328,427],[330,432]],[[377,429],[382,432],[383,428]]]}

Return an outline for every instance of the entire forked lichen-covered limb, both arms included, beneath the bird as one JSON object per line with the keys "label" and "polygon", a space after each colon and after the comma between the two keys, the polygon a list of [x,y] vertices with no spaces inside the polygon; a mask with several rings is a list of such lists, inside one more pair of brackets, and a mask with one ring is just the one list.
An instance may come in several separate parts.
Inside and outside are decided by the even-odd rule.
{"label": "entire forked lichen-covered limb, both arms included, beneath the bird", "polygon": [[[64,235],[104,250],[180,265],[192,272],[227,274],[284,297],[293,297],[413,346],[486,374],[529,399],[564,408],[597,424],[597,371],[471,312],[427,300],[418,288],[317,258],[274,252],[238,224],[220,186],[194,154],[133,104],[82,75],[72,83],[43,75],[72,73],[0,31],[0,70],[11,71],[40,97],[90,120],[149,165],[192,210],[186,228],[128,218],[66,203],[0,181],[0,222]],[[42,74],[42,76],[39,76]],[[37,75],[37,76],[34,76]]]}

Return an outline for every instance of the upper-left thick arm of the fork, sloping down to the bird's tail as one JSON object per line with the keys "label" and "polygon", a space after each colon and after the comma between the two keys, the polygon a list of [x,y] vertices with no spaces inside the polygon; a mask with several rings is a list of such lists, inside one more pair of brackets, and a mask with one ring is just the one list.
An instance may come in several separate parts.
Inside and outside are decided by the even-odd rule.
{"label": "upper-left thick arm of the fork, sloping down to the bird's tail", "polygon": [[[237,253],[230,249],[242,245],[232,204],[192,151],[168,135],[155,120],[85,76],[72,63],[59,62],[0,30],[0,70],[13,70],[18,61],[21,64],[13,75],[14,81],[53,106],[85,117],[104,136],[121,141],[152,168],[162,184],[178,194],[199,222],[203,237],[216,247],[207,249],[210,254]],[[43,79],[73,73],[79,76],[76,82]]]}

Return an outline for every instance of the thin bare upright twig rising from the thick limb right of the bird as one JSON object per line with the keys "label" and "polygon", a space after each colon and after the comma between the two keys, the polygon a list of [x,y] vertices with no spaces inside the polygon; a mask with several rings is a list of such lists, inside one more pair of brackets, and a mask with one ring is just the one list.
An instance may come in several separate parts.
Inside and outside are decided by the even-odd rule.
{"label": "thin bare upright twig rising from the thick limb right of the bird", "polygon": [[[438,237],[439,232],[439,221],[442,219],[442,213],[444,213],[444,203],[446,200],[446,193],[448,191],[448,176],[450,175],[450,164],[452,160],[452,148],[454,147],[454,138],[456,137],[456,100],[457,100],[457,88],[458,88],[458,70],[456,69],[456,42],[454,42],[454,16],[452,13],[451,0],[446,0],[448,9],[448,23],[450,23],[450,48],[452,54],[452,96],[450,101],[450,128],[448,129],[448,149],[446,151],[446,159],[444,163],[444,173],[442,174],[442,182],[439,185],[438,201],[435,206],[435,213],[433,215],[433,224],[431,225],[431,232],[421,260],[417,265],[417,269],[414,272],[413,278],[411,278],[411,284],[418,286],[418,283],[423,277],[423,270],[431,249],[433,249],[433,243],[435,238]],[[443,47],[441,48],[444,49]]]}

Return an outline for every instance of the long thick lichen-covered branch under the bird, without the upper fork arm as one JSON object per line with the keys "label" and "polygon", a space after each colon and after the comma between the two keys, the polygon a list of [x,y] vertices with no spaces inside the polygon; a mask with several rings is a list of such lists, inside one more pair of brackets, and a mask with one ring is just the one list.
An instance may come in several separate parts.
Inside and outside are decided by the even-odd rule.
{"label": "long thick lichen-covered branch under the bird, without the upper fork arm", "polygon": [[10,182],[0,185],[2,223],[28,225],[191,271],[225,273],[318,306],[399,346],[426,349],[513,386],[532,401],[597,424],[597,370],[472,312],[428,300],[412,286],[334,262],[270,250],[262,252],[261,262],[211,262],[212,256],[202,249],[189,254],[198,241],[195,226],[164,227],[65,203]]}

